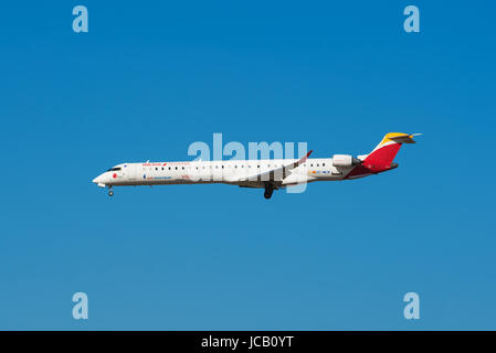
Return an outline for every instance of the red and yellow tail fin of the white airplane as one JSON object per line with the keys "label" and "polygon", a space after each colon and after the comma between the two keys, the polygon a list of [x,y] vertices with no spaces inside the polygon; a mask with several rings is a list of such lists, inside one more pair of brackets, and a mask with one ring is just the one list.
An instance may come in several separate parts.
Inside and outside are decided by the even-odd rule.
{"label": "red and yellow tail fin of the white airplane", "polygon": [[372,172],[395,168],[393,159],[402,143],[415,143],[413,137],[420,133],[389,132],[382,141],[363,159],[363,167]]}

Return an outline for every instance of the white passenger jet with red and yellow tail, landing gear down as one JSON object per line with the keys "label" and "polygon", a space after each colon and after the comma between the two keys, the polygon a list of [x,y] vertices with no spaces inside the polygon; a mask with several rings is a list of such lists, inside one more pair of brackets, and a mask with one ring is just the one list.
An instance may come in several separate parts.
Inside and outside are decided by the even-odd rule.
{"label": "white passenger jet with red and yellow tail, landing gear down", "polygon": [[223,183],[240,188],[264,189],[271,199],[274,190],[316,181],[352,180],[398,168],[393,162],[402,143],[415,143],[421,133],[389,132],[369,153],[353,157],[309,159],[228,160],[120,163],[93,180],[101,188]]}

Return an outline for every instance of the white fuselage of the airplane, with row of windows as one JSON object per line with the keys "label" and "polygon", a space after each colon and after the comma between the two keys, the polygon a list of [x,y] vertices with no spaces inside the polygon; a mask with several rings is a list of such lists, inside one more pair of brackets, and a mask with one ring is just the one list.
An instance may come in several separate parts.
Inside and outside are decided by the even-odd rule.
{"label": "white fuselage of the airplane, with row of windows", "polygon": [[288,175],[283,172],[275,179],[268,174],[261,175],[296,161],[284,159],[122,163],[98,175],[93,182],[108,188],[184,183],[226,183],[264,188],[265,182],[271,180],[276,188],[284,188],[305,182],[341,180],[353,168],[336,168],[331,158],[308,159]]}

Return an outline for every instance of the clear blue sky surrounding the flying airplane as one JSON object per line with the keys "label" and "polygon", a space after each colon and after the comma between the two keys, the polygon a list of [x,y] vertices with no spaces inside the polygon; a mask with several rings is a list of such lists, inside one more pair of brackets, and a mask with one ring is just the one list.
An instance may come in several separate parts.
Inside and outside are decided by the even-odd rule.
{"label": "clear blue sky surrounding the flying airplane", "polygon": [[[403,31],[408,4],[421,33]],[[0,329],[496,329],[495,11],[2,2]],[[268,202],[228,185],[110,200],[91,183],[119,162],[188,160],[213,132],[324,158],[389,131],[424,133],[397,170]]]}

